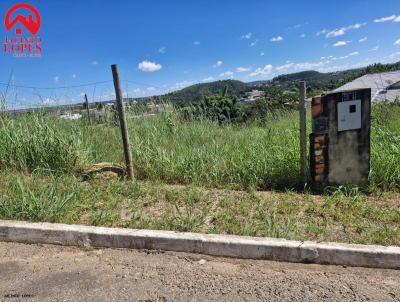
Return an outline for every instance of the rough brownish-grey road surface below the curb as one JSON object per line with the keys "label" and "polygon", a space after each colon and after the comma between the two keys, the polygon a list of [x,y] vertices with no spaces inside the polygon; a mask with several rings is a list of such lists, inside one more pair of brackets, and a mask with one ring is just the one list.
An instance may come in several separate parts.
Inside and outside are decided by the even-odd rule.
{"label": "rough brownish-grey road surface below the curb", "polygon": [[1,301],[400,301],[400,271],[0,243]]}

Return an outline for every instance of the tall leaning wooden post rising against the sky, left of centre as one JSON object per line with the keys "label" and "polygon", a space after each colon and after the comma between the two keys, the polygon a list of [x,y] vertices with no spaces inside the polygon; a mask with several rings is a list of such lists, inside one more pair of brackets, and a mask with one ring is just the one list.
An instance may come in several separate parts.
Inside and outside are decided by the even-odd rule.
{"label": "tall leaning wooden post rising against the sky, left of centre", "polygon": [[121,92],[121,85],[119,82],[118,66],[115,64],[111,65],[111,70],[112,70],[113,78],[114,78],[115,98],[116,98],[116,103],[117,103],[119,122],[121,125],[122,143],[124,145],[126,168],[128,170],[128,177],[129,177],[129,179],[132,180],[134,177],[132,153],[131,153],[131,146],[129,144],[128,126],[126,123],[124,102],[122,99],[122,92]]}

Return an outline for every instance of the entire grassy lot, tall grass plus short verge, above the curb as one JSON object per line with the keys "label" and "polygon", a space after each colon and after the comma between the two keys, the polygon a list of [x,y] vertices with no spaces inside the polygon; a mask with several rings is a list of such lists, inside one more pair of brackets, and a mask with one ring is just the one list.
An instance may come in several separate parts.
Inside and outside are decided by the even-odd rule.
{"label": "entire grassy lot, tall grass plus short verge, above the curb", "polygon": [[295,112],[263,127],[131,118],[134,182],[79,176],[123,162],[118,126],[2,117],[0,218],[400,245],[400,106],[373,112],[369,189],[323,195],[300,182]]}

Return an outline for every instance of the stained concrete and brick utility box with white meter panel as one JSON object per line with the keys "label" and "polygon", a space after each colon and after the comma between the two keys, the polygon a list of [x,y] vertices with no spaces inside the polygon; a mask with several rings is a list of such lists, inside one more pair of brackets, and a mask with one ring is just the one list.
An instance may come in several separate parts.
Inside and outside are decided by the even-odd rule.
{"label": "stained concrete and brick utility box with white meter panel", "polygon": [[371,89],[314,97],[311,108],[313,180],[365,186],[370,170]]}

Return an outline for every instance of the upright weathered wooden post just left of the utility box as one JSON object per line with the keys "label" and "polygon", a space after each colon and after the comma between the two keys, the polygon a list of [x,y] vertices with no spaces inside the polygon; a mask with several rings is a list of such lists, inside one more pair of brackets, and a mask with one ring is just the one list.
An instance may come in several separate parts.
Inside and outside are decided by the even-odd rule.
{"label": "upright weathered wooden post just left of the utility box", "polygon": [[307,182],[307,112],[306,112],[306,82],[300,82],[300,172],[303,184]]}

